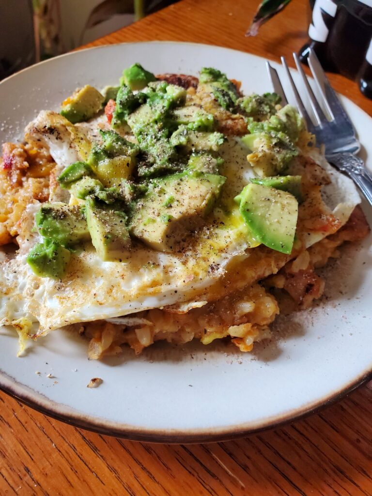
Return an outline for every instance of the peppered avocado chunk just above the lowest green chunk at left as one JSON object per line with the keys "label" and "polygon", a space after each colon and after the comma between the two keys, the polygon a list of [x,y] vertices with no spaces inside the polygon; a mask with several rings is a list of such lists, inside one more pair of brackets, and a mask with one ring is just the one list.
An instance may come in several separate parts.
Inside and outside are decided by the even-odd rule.
{"label": "peppered avocado chunk just above the lowest green chunk at left", "polygon": [[68,248],[89,240],[87,223],[81,208],[62,202],[43,203],[35,215],[36,227],[43,238]]}

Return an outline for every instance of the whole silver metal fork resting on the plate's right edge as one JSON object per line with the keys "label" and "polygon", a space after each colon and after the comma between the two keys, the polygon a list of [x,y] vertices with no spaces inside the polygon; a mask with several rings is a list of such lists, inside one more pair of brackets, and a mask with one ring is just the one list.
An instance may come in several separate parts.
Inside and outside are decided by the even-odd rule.
{"label": "whole silver metal fork resting on the plate's right edge", "polygon": [[[320,96],[318,99],[316,99],[295,53],[293,54],[293,57],[304,83],[304,88],[300,91],[305,91],[305,94],[310,101],[315,123],[311,120],[310,115],[305,108],[304,102],[289,71],[287,62],[284,57],[282,57],[281,60],[293,92],[296,106],[300,115],[305,120],[308,130],[315,135],[319,145],[324,145],[325,157],[328,162],[334,165],[339,171],[349,176],[357,186],[359,186],[372,205],[372,175],[366,169],[363,160],[355,155],[360,150],[360,143],[355,136],[353,124],[343,109],[335,91],[329,84],[315,53],[310,50],[308,60],[312,76],[319,90]],[[282,97],[282,103],[286,105],[288,101],[278,73],[269,62],[266,62],[266,65],[274,91]],[[324,115],[321,105],[329,114],[329,120]]]}

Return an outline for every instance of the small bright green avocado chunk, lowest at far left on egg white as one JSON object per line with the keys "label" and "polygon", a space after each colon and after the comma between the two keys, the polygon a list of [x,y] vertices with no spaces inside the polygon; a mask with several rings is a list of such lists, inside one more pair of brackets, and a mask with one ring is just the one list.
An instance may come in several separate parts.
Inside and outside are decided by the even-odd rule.
{"label": "small bright green avocado chunk, lowest at far left on egg white", "polygon": [[71,252],[54,241],[36,244],[27,256],[27,263],[39,277],[61,279]]}

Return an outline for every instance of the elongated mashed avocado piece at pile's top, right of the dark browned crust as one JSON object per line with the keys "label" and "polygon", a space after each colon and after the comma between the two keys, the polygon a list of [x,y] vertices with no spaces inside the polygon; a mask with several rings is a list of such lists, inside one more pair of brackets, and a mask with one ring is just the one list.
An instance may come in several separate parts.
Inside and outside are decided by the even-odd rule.
{"label": "elongated mashed avocado piece at pile's top, right of the dark browned crust", "polygon": [[203,67],[200,71],[199,82],[211,86],[214,98],[223,109],[235,110],[239,93],[226,74],[213,67]]}

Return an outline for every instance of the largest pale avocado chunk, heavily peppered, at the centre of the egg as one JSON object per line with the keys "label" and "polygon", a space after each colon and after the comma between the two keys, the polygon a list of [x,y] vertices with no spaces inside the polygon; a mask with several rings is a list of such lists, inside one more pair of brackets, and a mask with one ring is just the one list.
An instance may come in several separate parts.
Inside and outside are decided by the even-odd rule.
{"label": "largest pale avocado chunk, heavily peppered, at the centre of the egg", "polygon": [[130,233],[151,248],[175,250],[191,230],[202,225],[225,179],[213,174],[181,173],[153,180],[134,208]]}

